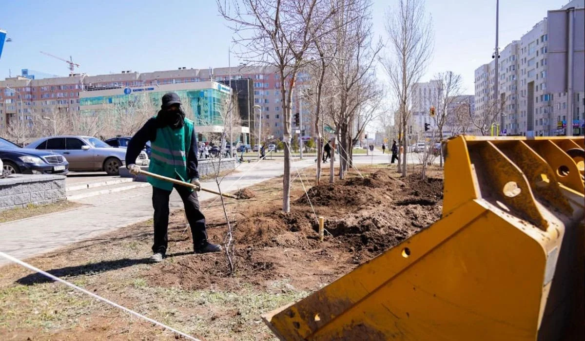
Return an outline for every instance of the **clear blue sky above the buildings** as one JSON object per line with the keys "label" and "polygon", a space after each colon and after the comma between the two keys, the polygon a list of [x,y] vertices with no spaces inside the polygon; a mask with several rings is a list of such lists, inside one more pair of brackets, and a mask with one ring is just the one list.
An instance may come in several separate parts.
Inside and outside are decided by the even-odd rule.
{"label": "clear blue sky above the buildings", "polygon": [[[549,9],[565,2],[501,0],[500,47],[519,39]],[[384,35],[384,12],[394,0],[374,0],[374,30]],[[491,60],[495,44],[495,0],[427,0],[435,29],[433,60],[423,81],[441,71],[463,76],[473,94],[473,71]],[[87,74],[149,72],[177,67],[228,66],[232,33],[214,0],[1,0],[0,28],[8,31],[0,79],[29,68],[67,75],[68,59]],[[232,57],[232,65],[238,60]],[[383,79],[384,77],[380,77]]]}

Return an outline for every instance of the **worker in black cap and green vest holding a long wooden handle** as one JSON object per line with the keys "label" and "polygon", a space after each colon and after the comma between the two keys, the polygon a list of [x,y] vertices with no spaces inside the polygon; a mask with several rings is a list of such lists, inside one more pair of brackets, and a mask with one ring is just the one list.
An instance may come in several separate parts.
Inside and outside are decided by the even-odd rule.
{"label": "worker in black cap and green vest holding a long wooden handle", "polygon": [[201,212],[197,191],[201,190],[197,171],[197,135],[193,121],[185,118],[181,99],[174,92],[165,94],[163,105],[157,115],[144,123],[128,143],[126,167],[132,174],[138,174],[136,157],[147,141],[152,143],[149,171],[165,177],[190,181],[197,190],[183,185],[149,177],[152,185],[152,205],[154,208],[154,243],[150,260],[158,263],[166,257],[168,249],[168,198],[177,190],[185,208],[185,215],[191,227],[193,250],[195,253],[221,252],[222,247],[207,241],[205,216]]}

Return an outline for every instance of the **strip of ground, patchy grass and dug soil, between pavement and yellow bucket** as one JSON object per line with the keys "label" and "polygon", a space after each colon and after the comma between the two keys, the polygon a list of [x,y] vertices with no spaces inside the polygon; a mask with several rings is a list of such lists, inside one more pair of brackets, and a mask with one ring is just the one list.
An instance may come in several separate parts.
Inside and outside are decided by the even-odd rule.
{"label": "strip of ground, patchy grass and dug soil, between pavement and yellow bucket", "polygon": [[[226,199],[235,230],[236,273],[225,254],[192,254],[184,215],[171,215],[168,258],[147,264],[152,222],[30,259],[81,287],[209,340],[273,339],[260,314],[305,297],[357,264],[400,243],[441,216],[441,171],[399,178],[394,168],[360,170],[364,178],[309,188],[292,185],[291,212],[281,212],[282,179]],[[314,170],[305,170],[307,180]],[[246,193],[244,193],[246,192]],[[219,200],[204,202],[208,235],[227,229]],[[319,242],[318,216],[327,231]],[[17,266],[0,275],[0,339],[173,339],[171,333]]]}

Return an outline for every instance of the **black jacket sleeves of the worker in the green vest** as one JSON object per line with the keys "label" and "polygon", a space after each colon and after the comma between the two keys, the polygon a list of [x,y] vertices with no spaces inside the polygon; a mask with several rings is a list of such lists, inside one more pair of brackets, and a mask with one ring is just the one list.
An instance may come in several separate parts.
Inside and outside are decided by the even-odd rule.
{"label": "black jacket sleeves of the worker in the green vest", "polygon": [[[136,132],[130,142],[128,142],[128,149],[126,149],[126,164],[136,163],[136,158],[140,154],[140,151],[144,149],[146,142],[153,142],[156,140],[156,129],[158,128],[156,118],[151,118],[144,123],[142,128]],[[199,178],[199,172],[197,171],[197,135],[195,134],[195,128],[191,134],[191,146],[187,153],[187,175],[190,179]]]}

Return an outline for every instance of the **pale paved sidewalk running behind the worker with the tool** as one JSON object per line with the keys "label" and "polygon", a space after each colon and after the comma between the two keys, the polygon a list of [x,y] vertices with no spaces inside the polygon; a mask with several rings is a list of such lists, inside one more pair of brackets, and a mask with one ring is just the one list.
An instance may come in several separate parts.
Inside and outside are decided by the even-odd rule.
{"label": "pale paved sidewalk running behind the worker with the tool", "polygon": [[[292,173],[314,165],[314,159],[294,161]],[[228,175],[221,183],[222,191],[231,192],[248,187],[270,178],[283,175],[283,163],[260,161],[242,163],[238,172]],[[216,189],[215,180],[202,181],[202,186]],[[80,199],[84,204],[70,211],[51,213],[44,216],[22,219],[0,224],[2,239],[0,250],[18,259],[36,256],[61,246],[91,239],[109,230],[122,228],[133,223],[152,219],[152,188],[136,188],[109,195]],[[199,192],[199,201],[216,198],[215,194]],[[170,208],[183,208],[183,202],[176,191],[171,194]],[[0,259],[0,265],[8,263]]]}

